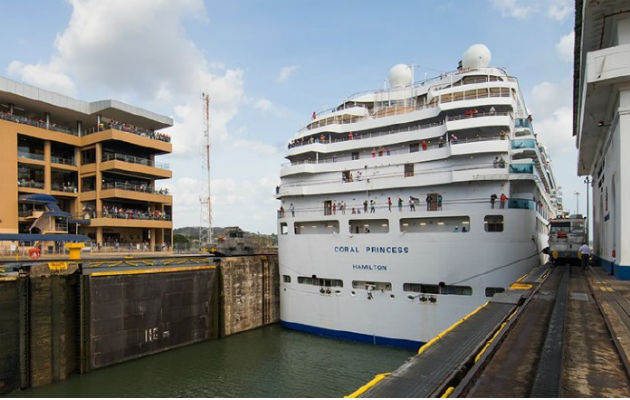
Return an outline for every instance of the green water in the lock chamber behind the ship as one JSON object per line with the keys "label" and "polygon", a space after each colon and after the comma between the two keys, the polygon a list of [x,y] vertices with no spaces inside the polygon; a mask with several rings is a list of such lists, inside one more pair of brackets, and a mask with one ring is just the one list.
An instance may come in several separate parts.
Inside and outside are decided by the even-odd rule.
{"label": "green water in the lock chamber behind the ship", "polygon": [[413,352],[272,325],[13,392],[15,397],[342,397]]}

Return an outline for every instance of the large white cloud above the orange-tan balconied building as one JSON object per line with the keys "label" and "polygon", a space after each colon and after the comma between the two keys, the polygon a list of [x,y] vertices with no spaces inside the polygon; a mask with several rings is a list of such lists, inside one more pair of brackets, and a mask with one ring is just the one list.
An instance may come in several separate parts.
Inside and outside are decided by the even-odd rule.
{"label": "large white cloud above the orange-tan balconied building", "polygon": [[[182,156],[202,136],[202,92],[211,96],[213,133],[224,138],[243,102],[243,71],[208,61],[183,27],[205,19],[201,0],[70,0],[72,16],[47,63],[14,61],[9,73],[33,85],[76,95],[101,89],[117,99],[175,111],[173,152]],[[218,70],[219,73],[211,72]]]}

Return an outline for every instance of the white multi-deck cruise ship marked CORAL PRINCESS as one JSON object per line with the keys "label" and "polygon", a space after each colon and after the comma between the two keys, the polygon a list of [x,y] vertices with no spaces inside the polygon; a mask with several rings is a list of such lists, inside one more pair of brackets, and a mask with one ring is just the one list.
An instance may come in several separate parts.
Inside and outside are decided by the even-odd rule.
{"label": "white multi-deck cruise ship marked CORAL PRINCESS", "polygon": [[284,326],[416,347],[544,262],[560,206],[518,81],[482,44],[455,71],[314,112],[276,197]]}

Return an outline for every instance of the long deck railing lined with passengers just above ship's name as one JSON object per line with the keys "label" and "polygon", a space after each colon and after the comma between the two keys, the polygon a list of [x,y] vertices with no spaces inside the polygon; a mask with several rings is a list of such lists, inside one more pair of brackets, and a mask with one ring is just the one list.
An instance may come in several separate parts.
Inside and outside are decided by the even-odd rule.
{"label": "long deck railing lined with passengers just above ship's name", "polygon": [[[442,195],[441,195],[442,196]],[[441,200],[432,199],[427,202],[426,199],[419,197],[401,198],[402,202],[399,203],[398,198],[392,198],[392,204],[378,204],[371,206],[369,200],[364,202],[335,203],[333,208],[332,204],[325,207],[297,207],[293,212],[291,210],[280,209],[277,210],[278,218],[293,218],[312,216],[312,215],[370,215],[370,214],[382,214],[389,212],[402,212],[402,211],[453,211],[456,209],[462,209],[460,206],[468,205],[486,205],[482,209],[521,209],[521,210],[537,210],[538,202],[532,199],[524,198],[506,198],[505,201],[501,201],[500,197],[494,199],[491,198],[461,198],[461,199],[445,199],[443,196]]]}

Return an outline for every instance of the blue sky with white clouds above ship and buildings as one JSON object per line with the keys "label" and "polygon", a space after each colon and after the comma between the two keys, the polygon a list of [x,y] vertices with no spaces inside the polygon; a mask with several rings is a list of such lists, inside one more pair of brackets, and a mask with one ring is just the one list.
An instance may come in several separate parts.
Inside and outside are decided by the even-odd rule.
{"label": "blue sky with white clouds above ship and buildings", "polygon": [[[173,118],[174,227],[200,223],[201,93],[210,95],[214,226],[276,232],[286,144],[320,111],[454,70],[483,43],[519,79],[565,208],[586,213],[572,136],[571,0],[21,0],[0,14],[0,75],[85,101],[117,99]],[[579,192],[579,197],[575,195]]]}

